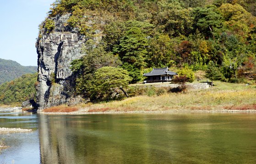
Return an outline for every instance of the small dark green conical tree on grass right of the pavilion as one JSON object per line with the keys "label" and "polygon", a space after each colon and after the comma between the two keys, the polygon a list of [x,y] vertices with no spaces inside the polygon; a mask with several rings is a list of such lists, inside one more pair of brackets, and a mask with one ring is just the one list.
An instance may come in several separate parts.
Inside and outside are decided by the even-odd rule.
{"label": "small dark green conical tree on grass right of the pavilion", "polygon": [[213,80],[221,80],[222,76],[219,67],[217,67],[214,62],[210,61],[207,66],[206,77],[212,80],[211,86],[213,85]]}

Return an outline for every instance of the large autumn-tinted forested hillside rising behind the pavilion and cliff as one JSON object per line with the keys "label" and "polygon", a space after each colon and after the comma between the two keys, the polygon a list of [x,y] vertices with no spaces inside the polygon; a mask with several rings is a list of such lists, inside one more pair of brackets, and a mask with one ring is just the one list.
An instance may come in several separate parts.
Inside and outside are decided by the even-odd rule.
{"label": "large autumn-tinted forested hillside rising behind the pavilion and cliff", "polygon": [[95,72],[106,66],[127,70],[131,83],[152,67],[217,67],[217,79],[245,82],[256,78],[255,6],[255,0],[56,0],[40,30],[50,33],[54,17],[71,13],[66,29],[88,38],[85,56],[72,63],[78,94],[95,90]]}

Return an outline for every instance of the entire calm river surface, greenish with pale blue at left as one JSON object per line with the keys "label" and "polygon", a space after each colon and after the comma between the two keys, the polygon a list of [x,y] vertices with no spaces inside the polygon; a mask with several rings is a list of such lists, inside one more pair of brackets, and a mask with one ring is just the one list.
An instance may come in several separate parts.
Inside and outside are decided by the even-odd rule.
{"label": "entire calm river surface, greenish with pale blue at left", "polygon": [[255,113],[0,113],[0,164],[256,164]]}

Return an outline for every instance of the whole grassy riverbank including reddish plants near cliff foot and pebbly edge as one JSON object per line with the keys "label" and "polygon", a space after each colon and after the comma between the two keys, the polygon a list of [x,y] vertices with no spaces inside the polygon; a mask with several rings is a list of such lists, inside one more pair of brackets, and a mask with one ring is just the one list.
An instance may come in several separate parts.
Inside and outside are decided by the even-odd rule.
{"label": "whole grassy riverbank including reddish plants near cliff foot and pebbly edge", "polygon": [[[173,112],[243,112],[256,113],[256,86],[215,82],[208,89],[189,89],[186,93],[166,93],[160,96],[129,97],[108,103],[87,103],[75,107],[49,108],[48,113],[173,113]],[[62,108],[62,112],[58,109]],[[66,108],[66,110],[65,110]],[[71,111],[69,109],[72,108]],[[67,112],[65,112],[67,111]]]}

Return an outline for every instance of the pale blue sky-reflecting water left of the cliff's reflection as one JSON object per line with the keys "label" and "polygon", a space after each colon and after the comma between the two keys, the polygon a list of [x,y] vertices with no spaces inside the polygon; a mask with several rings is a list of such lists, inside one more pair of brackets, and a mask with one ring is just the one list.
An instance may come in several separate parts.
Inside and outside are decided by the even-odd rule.
{"label": "pale blue sky-reflecting water left of the cliff's reflection", "polygon": [[8,149],[0,153],[0,164],[39,164],[37,115],[30,113],[0,113],[0,127],[32,128],[33,133],[0,134]]}

